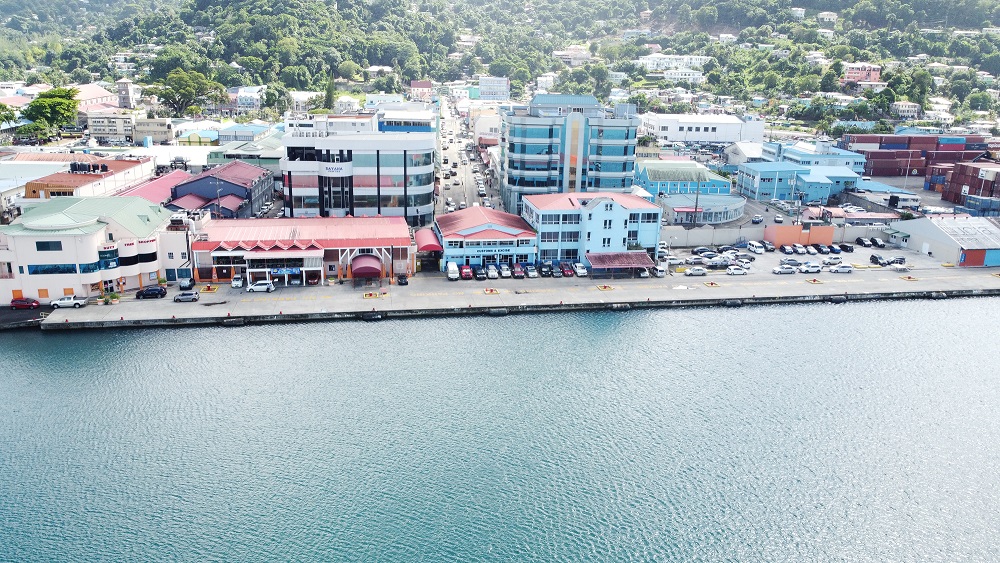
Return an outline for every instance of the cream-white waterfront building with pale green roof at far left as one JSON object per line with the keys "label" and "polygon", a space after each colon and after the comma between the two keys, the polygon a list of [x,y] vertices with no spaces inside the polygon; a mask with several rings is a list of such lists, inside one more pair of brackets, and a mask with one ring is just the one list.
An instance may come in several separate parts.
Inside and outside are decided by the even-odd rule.
{"label": "cream-white waterfront building with pale green roof at far left", "polygon": [[47,201],[0,226],[0,299],[48,303],[190,277],[189,224],[139,197]]}

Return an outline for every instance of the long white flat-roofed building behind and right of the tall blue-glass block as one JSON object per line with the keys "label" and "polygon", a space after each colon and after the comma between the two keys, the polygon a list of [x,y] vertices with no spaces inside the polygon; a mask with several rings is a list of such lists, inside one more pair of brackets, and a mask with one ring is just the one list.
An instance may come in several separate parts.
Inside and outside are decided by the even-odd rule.
{"label": "long white flat-roofed building behind and right of the tall blue-glass block", "polygon": [[640,116],[646,133],[661,142],[735,143],[764,141],[764,122],[735,115],[647,113]]}

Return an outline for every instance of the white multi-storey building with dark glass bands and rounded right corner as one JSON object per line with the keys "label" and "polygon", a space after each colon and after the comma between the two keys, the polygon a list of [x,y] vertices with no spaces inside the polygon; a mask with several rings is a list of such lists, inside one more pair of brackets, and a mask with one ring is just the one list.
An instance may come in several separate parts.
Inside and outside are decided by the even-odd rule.
{"label": "white multi-storey building with dark glass bands and rounded right corner", "polygon": [[312,115],[288,119],[282,143],[290,216],[433,219],[436,132],[379,131],[375,115]]}

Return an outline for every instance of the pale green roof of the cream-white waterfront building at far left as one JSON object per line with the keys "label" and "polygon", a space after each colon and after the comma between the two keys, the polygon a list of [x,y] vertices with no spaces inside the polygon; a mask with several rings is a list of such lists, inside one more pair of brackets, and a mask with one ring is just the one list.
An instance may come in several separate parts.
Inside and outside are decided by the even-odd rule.
{"label": "pale green roof of the cream-white waterfront building at far left", "polygon": [[56,197],[29,208],[14,223],[0,227],[9,235],[89,234],[115,222],[137,238],[156,232],[173,212],[141,197]]}

